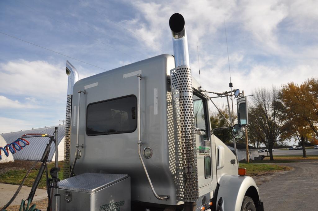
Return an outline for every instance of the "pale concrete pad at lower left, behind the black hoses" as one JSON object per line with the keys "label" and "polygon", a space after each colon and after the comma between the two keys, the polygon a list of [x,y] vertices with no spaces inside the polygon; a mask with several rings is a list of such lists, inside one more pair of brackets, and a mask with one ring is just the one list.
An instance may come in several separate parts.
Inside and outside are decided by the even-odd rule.
{"label": "pale concrete pad at lower left, behind the black hoses", "polygon": [[[2,208],[4,205],[8,203],[8,201],[12,198],[13,194],[18,189],[18,185],[9,185],[9,184],[3,184],[0,183],[0,208]],[[28,198],[31,191],[31,187],[23,186],[17,195],[16,199],[11,203],[11,205],[20,205],[22,199]],[[33,202],[35,201],[42,201],[44,199],[47,199],[47,193],[45,189],[37,188]]]}

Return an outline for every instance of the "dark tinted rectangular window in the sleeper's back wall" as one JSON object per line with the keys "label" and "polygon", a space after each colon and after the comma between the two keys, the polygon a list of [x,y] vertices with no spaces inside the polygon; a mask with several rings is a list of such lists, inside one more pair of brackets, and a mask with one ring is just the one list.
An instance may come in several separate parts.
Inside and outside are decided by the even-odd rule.
{"label": "dark tinted rectangular window in the sleeper's back wall", "polygon": [[86,134],[131,133],[137,127],[135,95],[91,103],[86,110]]}

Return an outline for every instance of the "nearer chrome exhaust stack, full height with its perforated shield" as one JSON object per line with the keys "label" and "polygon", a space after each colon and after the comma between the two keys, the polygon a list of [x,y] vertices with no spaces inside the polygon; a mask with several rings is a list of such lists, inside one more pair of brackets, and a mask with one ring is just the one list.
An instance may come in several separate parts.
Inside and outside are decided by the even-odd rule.
{"label": "nearer chrome exhaust stack, full height with its perforated shield", "polygon": [[176,68],[170,70],[174,119],[176,122],[176,187],[177,199],[185,210],[195,210],[198,199],[197,153],[194,134],[192,76],[184,18],[179,13],[170,17]]}

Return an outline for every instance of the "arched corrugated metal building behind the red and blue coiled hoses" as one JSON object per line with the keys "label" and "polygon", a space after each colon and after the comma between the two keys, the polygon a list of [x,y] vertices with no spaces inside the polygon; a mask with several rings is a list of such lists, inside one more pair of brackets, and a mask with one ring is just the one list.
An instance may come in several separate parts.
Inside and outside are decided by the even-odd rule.
{"label": "arched corrugated metal building behind the red and blue coiled hoses", "polygon": [[[17,140],[17,138],[21,137],[23,134],[26,133],[44,133],[48,135],[53,135],[56,126],[52,127],[44,127],[32,130],[25,130],[13,133],[2,133],[2,137],[6,143],[0,146],[4,147],[6,144],[10,144],[13,141]],[[65,137],[65,125],[60,125],[58,127],[58,150],[59,150],[59,161],[64,160],[64,137]],[[25,146],[22,150],[17,151],[13,154],[14,160],[40,160],[44,153],[46,144],[49,142],[49,138],[47,137],[35,137],[35,138],[27,138],[30,142],[29,145]],[[2,153],[3,155],[3,153]],[[9,156],[12,154],[9,152]],[[3,158],[7,158],[5,155],[2,156]],[[49,153],[48,161],[55,160],[55,146],[54,143],[51,145],[51,151]]]}

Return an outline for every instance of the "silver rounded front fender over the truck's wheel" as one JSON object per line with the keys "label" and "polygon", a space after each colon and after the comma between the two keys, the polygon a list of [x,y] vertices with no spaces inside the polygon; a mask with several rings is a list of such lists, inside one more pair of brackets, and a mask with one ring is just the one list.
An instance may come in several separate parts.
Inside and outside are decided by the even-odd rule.
{"label": "silver rounded front fender over the truck's wheel", "polygon": [[258,187],[252,177],[223,175],[218,183],[216,201],[222,197],[223,210],[240,211],[245,195],[252,198],[257,210],[261,210]]}

